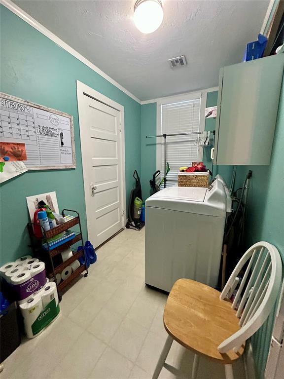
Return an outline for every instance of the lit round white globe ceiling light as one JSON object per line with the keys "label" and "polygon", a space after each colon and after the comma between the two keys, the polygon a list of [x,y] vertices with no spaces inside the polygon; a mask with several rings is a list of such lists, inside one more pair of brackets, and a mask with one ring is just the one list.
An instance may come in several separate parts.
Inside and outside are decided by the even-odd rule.
{"label": "lit round white globe ceiling light", "polygon": [[138,0],[134,5],[134,23],[140,32],[155,32],[162,24],[163,5],[160,0]]}

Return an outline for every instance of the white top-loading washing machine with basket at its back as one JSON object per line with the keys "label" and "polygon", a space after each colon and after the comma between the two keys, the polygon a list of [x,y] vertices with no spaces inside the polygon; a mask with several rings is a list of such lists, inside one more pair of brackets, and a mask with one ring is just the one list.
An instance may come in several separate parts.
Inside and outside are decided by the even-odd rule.
{"label": "white top-loading washing machine with basket at its back", "polygon": [[170,187],[145,202],[145,283],[170,292],[179,278],[216,287],[231,199],[218,178],[209,188]]}

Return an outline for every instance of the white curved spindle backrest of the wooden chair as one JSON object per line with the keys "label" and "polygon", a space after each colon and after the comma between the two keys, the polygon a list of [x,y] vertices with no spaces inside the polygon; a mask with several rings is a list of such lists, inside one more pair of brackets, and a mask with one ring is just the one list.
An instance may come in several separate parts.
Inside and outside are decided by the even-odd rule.
{"label": "white curved spindle backrest of the wooden chair", "polygon": [[[240,273],[246,265],[241,278]],[[275,304],[281,280],[282,262],[276,247],[268,242],[252,245],[235,267],[220,295],[221,300],[230,299],[237,291],[232,308],[237,309],[236,316],[240,318],[241,326],[238,332],[220,343],[220,353],[237,349],[261,327]]]}

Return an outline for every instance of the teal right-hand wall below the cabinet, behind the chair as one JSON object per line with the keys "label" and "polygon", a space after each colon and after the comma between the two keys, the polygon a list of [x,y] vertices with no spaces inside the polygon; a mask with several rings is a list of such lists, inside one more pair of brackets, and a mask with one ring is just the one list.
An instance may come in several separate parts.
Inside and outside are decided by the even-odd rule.
{"label": "teal right-hand wall below the cabinet, behind the chair", "polygon": [[[284,80],[269,166],[239,166],[237,186],[241,187],[248,170],[250,181],[246,237],[248,247],[257,241],[275,245],[284,262]],[[236,187],[236,188],[238,188]],[[264,377],[274,313],[252,338],[257,378]]]}

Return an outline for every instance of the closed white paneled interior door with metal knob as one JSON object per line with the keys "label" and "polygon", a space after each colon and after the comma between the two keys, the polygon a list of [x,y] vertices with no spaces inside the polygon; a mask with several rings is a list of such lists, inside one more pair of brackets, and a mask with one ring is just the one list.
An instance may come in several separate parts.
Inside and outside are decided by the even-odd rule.
{"label": "closed white paneled interior door with metal knob", "polygon": [[121,112],[83,94],[79,121],[88,237],[97,247],[124,227]]}

